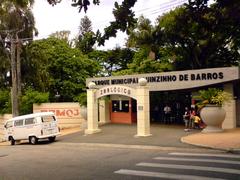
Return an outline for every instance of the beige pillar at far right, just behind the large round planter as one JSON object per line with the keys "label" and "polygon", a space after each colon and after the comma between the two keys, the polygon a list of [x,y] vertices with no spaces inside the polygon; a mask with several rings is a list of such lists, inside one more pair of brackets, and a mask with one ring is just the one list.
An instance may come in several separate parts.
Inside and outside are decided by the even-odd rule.
{"label": "beige pillar at far right, just behind the large round planter", "polygon": [[226,110],[226,118],[223,121],[222,128],[233,129],[236,128],[237,125],[236,100],[234,100],[233,84],[224,84],[224,91],[231,94],[232,98],[229,102],[226,102],[223,105],[223,108]]}

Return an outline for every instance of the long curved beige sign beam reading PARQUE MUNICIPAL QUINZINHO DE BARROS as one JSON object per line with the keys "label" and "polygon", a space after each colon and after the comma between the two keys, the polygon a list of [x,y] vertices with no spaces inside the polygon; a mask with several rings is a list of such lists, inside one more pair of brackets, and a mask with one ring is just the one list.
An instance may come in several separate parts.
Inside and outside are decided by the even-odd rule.
{"label": "long curved beige sign beam reading PARQUE MUNICIPAL QUINZINHO DE BARROS", "polygon": [[86,83],[88,84],[92,81],[99,88],[111,85],[136,87],[140,78],[146,78],[148,82],[147,85],[152,91],[187,89],[237,80],[239,79],[239,68],[212,68],[127,76],[88,78]]}

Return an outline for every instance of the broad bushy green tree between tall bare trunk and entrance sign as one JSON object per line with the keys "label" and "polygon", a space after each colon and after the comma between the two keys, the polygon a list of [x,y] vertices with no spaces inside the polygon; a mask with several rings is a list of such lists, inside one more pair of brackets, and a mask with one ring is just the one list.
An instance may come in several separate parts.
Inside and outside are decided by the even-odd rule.
{"label": "broad bushy green tree between tall bare trunk and entrance sign", "polygon": [[86,78],[93,77],[100,69],[96,61],[80,50],[53,37],[34,41],[26,54],[23,82],[40,92],[49,92],[51,101],[73,101],[85,91]]}

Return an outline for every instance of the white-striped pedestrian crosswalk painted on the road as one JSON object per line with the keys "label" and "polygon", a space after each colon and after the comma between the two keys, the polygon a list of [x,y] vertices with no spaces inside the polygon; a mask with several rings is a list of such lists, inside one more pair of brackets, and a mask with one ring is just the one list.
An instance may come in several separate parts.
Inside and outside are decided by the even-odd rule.
{"label": "white-striped pedestrian crosswalk painted on the road", "polygon": [[122,179],[237,180],[240,179],[240,155],[171,152],[114,173]]}

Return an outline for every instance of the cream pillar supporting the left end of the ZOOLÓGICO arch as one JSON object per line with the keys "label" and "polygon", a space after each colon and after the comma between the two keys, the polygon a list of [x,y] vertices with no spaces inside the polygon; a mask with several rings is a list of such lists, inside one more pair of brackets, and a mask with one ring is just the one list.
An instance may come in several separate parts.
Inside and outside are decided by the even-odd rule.
{"label": "cream pillar supporting the left end of the ZOOL\u00d3GICO arch", "polygon": [[87,129],[85,130],[85,134],[94,134],[98,132],[101,132],[101,129],[98,128],[96,89],[90,88],[87,90]]}

